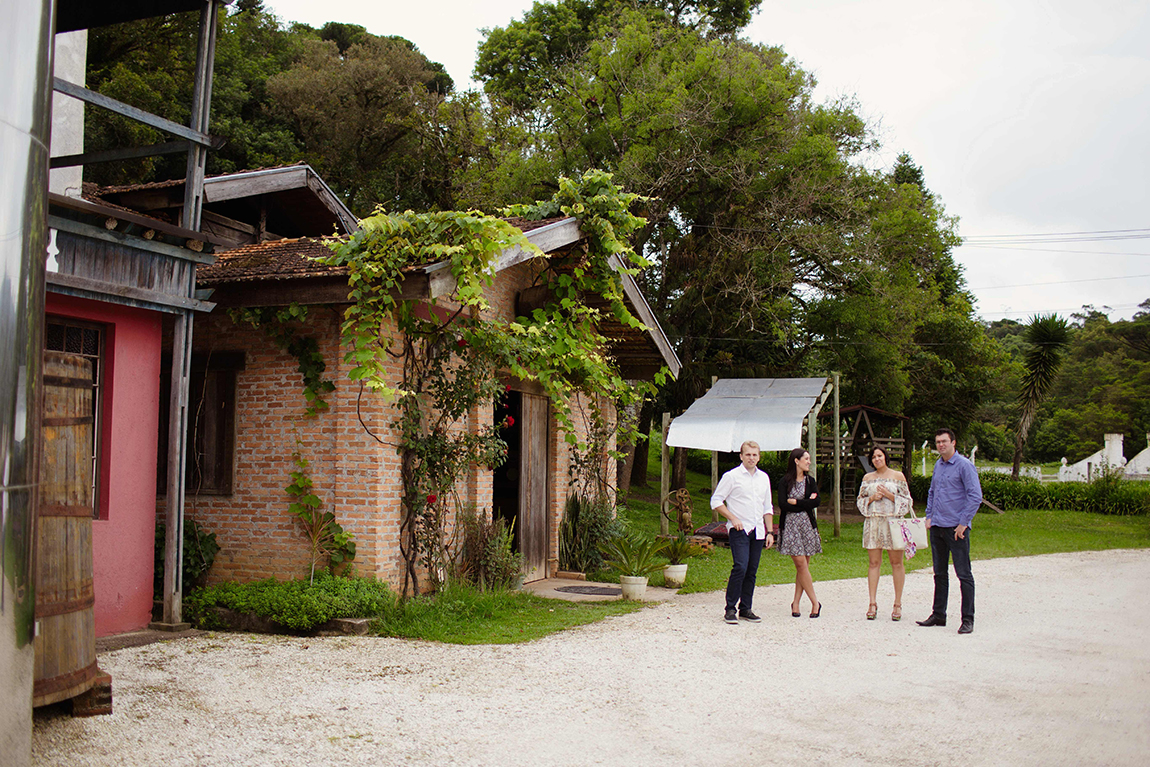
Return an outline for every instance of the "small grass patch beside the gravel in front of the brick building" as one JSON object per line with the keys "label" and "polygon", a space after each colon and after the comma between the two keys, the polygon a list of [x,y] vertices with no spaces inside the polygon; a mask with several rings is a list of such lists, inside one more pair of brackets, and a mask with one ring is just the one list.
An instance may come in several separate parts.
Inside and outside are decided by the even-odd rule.
{"label": "small grass patch beside the gravel in front of the brick building", "polygon": [[643,607],[636,601],[560,601],[523,591],[481,592],[452,585],[435,598],[397,604],[371,630],[379,636],[448,644],[512,644]]}

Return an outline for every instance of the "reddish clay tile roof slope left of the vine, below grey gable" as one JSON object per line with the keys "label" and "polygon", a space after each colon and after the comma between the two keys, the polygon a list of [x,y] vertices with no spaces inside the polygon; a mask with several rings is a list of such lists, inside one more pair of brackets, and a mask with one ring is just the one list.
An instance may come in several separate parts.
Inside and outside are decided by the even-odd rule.
{"label": "reddish clay tile roof slope left of the vine, below grey gable", "polygon": [[315,237],[273,239],[254,245],[241,245],[216,254],[216,262],[195,270],[195,282],[201,285],[217,283],[254,282],[258,279],[297,279],[346,275],[343,267],[328,267],[313,261],[331,255],[323,240]]}

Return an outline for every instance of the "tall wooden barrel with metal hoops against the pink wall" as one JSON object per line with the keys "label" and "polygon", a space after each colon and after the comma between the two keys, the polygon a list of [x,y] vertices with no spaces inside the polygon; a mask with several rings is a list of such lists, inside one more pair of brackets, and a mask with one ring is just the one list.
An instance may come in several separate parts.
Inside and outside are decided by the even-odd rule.
{"label": "tall wooden barrel with metal hoops against the pink wall", "polygon": [[93,400],[92,360],[44,353],[33,706],[86,692],[99,674],[92,588]]}

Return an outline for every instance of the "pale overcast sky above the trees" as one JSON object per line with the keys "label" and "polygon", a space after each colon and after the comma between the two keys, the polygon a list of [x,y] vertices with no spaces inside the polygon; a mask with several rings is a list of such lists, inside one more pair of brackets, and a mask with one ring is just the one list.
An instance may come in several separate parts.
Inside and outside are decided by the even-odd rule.
{"label": "pale overcast sky above the trees", "polygon": [[[480,29],[531,1],[264,5],[405,37],[467,89]],[[869,164],[922,167],[984,319],[1117,320],[1150,298],[1150,2],[765,0],[746,34],[814,72],[816,98],[858,99],[883,143]]]}

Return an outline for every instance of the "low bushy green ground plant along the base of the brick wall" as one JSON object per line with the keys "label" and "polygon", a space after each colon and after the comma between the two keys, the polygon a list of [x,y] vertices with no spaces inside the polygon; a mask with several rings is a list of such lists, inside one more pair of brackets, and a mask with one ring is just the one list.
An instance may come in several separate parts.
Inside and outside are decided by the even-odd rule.
{"label": "low bushy green ground plant along the base of the brick wall", "polygon": [[222,628],[213,607],[227,607],[307,631],[334,618],[381,615],[394,599],[386,584],[375,578],[336,577],[321,570],[314,583],[269,578],[200,589],[184,599],[184,616],[199,628]]}

